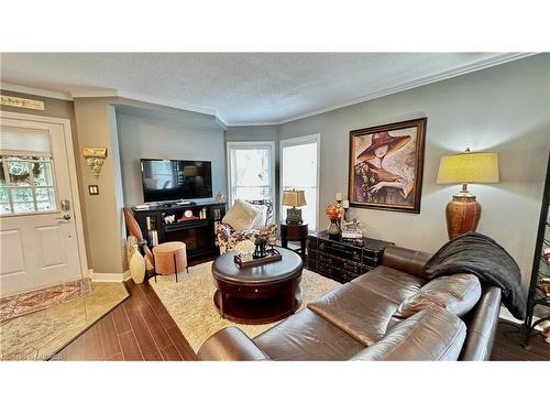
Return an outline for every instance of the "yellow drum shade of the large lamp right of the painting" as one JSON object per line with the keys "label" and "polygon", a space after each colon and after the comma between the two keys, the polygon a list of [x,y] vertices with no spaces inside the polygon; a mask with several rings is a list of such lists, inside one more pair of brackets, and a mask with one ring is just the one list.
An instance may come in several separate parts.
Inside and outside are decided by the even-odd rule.
{"label": "yellow drum shade of the large lamp right of the painting", "polygon": [[495,184],[498,182],[498,155],[470,152],[442,156],[438,184]]}

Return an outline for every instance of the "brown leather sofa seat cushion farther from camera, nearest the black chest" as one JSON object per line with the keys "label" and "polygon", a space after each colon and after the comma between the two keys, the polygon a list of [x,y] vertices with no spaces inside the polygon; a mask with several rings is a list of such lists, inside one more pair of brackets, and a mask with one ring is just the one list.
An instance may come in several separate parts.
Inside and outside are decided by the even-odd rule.
{"label": "brown leather sofa seat cushion farther from camera, nearest the black chest", "polygon": [[374,291],[348,283],[310,302],[307,307],[363,345],[371,346],[384,336],[398,305]]}

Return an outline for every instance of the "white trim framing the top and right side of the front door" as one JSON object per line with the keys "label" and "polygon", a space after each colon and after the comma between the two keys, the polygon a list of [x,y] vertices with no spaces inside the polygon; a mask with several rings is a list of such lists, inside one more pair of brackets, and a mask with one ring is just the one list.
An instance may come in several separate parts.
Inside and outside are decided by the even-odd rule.
{"label": "white trim framing the top and right side of the front door", "polygon": [[80,274],[81,278],[88,276],[88,260],[86,259],[86,243],[84,238],[84,224],[82,224],[82,210],[80,208],[80,195],[78,192],[78,178],[76,173],[76,160],[75,151],[73,145],[73,132],[70,129],[70,119],[66,118],[52,118],[46,116],[37,115],[26,115],[10,112],[6,110],[0,110],[1,119],[16,119],[16,120],[29,120],[44,123],[61,124],[63,127],[65,135],[65,148],[67,149],[67,163],[69,170],[69,183],[70,191],[73,193],[73,211],[75,214],[75,226],[78,243],[78,254],[80,260]]}

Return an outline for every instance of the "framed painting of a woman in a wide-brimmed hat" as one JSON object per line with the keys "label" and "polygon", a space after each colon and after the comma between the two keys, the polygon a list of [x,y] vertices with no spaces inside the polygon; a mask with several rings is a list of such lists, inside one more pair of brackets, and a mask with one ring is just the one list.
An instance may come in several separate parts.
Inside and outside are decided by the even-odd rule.
{"label": "framed painting of a woman in a wide-brimmed hat", "polygon": [[420,213],[427,120],[350,132],[350,206]]}

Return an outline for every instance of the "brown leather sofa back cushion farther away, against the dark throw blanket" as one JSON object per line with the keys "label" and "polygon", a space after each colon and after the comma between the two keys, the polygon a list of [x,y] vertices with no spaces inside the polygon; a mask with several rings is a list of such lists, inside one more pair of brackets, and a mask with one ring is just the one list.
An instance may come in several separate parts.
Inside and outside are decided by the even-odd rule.
{"label": "brown leather sofa back cushion farther away, against the dark throw blanket", "polygon": [[481,297],[481,284],[475,275],[454,274],[440,276],[425,284],[420,291],[406,298],[396,312],[407,318],[430,306],[440,306],[462,317]]}

